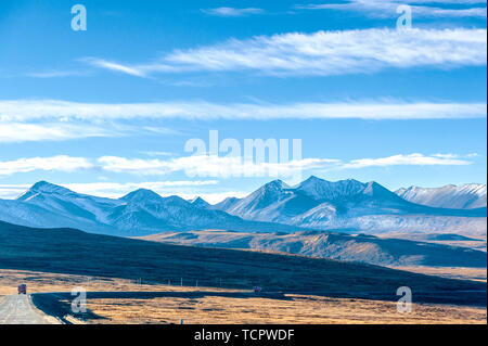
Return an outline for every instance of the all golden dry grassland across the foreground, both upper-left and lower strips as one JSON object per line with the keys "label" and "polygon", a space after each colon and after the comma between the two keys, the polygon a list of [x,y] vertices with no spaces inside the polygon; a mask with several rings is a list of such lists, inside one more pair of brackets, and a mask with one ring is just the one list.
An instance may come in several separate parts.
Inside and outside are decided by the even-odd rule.
{"label": "all golden dry grassland across the foreground, both upper-left and lower strips", "polygon": [[[138,284],[125,279],[91,278],[0,269],[0,295],[16,293],[24,282],[30,293],[70,292],[235,292],[215,287]],[[64,302],[68,303],[68,302]],[[413,304],[397,312],[394,302],[286,294],[282,299],[254,296],[94,298],[87,307],[100,319],[85,323],[487,323],[486,308]],[[80,322],[68,319],[72,322]]]}

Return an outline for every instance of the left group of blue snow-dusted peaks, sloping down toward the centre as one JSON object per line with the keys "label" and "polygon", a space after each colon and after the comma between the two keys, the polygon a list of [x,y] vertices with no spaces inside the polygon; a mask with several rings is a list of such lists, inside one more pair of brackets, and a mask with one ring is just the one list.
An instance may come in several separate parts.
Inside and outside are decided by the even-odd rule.
{"label": "left group of blue snow-dusted peaks, sloping down toward the centre", "polygon": [[118,200],[103,198],[41,181],[15,201],[0,200],[0,220],[28,227],[70,227],[118,235],[209,228],[296,230],[290,226],[246,221],[221,210],[207,209],[203,202],[191,203],[179,196],[162,197],[143,189]]}

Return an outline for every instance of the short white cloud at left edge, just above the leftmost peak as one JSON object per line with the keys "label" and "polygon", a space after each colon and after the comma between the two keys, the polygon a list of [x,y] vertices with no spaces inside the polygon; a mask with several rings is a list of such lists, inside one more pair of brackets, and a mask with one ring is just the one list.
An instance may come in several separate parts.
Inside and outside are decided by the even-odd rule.
{"label": "short white cloud at left edge, just above the leftmost peak", "polygon": [[0,176],[10,176],[34,170],[72,172],[91,168],[93,168],[93,165],[88,158],[66,155],[0,161]]}

